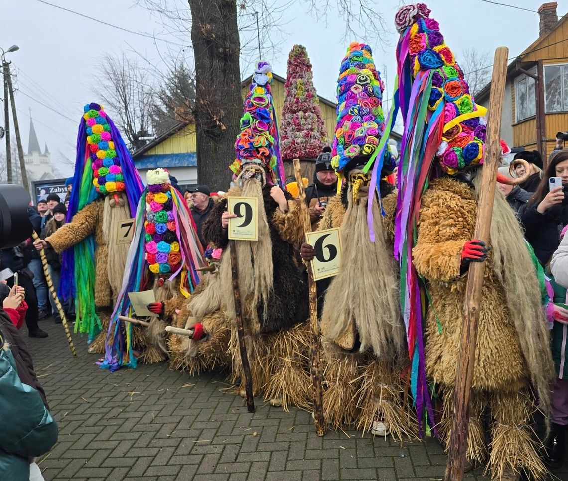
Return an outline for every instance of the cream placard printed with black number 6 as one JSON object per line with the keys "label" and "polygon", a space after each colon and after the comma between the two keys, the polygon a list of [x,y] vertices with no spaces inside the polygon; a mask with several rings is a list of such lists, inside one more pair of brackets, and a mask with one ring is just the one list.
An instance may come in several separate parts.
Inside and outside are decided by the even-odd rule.
{"label": "cream placard printed with black number 6", "polygon": [[316,256],[312,260],[314,281],[333,277],[341,268],[341,237],[339,229],[306,232],[306,242],[314,246]]}

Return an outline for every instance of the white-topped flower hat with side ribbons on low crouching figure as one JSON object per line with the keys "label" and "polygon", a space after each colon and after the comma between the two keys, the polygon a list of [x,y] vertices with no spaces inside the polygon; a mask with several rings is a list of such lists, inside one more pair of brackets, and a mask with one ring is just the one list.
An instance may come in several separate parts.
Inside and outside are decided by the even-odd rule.
{"label": "white-topped flower hat with side ribbons on low crouching figure", "polygon": [[148,186],[141,195],[126,260],[122,288],[110,318],[105,358],[101,367],[115,371],[136,367],[132,326],[121,325],[118,316],[132,316],[128,292],[152,288],[179,279],[179,295],[189,297],[199,283],[198,269],[205,267],[203,248],[183,196],[170,184],[165,169],[149,170]]}

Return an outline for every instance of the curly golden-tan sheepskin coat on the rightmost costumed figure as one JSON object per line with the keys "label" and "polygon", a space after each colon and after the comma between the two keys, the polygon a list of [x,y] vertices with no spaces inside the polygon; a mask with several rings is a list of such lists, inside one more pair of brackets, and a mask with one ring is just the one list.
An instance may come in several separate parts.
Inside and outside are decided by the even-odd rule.
{"label": "curly golden-tan sheepskin coat on the rightmost costumed figure", "polygon": [[[432,296],[425,328],[426,369],[435,382],[446,386],[456,384],[467,282],[467,277],[460,275],[461,252],[473,239],[476,216],[473,187],[456,179],[433,181],[422,197],[412,257],[417,273],[427,279]],[[491,252],[481,299],[472,387],[516,392],[527,384],[530,374]]]}

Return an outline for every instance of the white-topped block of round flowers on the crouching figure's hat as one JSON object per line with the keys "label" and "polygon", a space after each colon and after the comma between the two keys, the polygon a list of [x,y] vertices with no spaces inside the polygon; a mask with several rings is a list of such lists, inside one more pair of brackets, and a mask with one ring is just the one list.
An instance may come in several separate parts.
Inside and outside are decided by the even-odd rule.
{"label": "white-topped block of round flowers on the crouching figure's hat", "polygon": [[148,269],[159,275],[175,273],[181,267],[182,257],[170,178],[164,169],[149,170],[146,176],[148,191],[144,236]]}

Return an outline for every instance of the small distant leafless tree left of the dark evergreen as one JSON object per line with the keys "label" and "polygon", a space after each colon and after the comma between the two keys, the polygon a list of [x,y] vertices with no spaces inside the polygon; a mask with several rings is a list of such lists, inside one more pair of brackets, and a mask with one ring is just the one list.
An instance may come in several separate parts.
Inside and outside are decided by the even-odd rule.
{"label": "small distant leafless tree left of the dark evergreen", "polygon": [[154,104],[153,78],[136,60],[124,53],[105,55],[99,62],[104,82],[93,86],[126,138],[132,151],[143,147],[151,131],[151,110]]}

